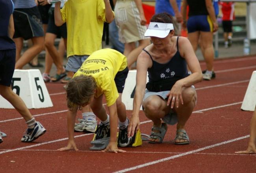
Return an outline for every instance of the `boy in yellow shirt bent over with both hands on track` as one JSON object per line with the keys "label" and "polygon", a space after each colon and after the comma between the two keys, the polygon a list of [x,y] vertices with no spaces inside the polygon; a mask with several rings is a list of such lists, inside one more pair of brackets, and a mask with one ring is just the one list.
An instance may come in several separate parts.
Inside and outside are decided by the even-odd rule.
{"label": "boy in yellow shirt bent over with both hands on track", "polygon": [[[60,148],[59,151],[78,150],[73,130],[76,111],[90,104],[95,115],[101,120],[95,132],[95,140],[110,136],[109,144],[104,151],[125,152],[117,148],[117,142],[119,146],[126,147],[132,139],[127,136],[129,120],[126,117],[126,107],[121,100],[128,71],[126,56],[114,49],[95,51],[83,62],[67,84],[69,142],[67,147]],[[106,98],[109,115],[102,105],[103,96]]]}

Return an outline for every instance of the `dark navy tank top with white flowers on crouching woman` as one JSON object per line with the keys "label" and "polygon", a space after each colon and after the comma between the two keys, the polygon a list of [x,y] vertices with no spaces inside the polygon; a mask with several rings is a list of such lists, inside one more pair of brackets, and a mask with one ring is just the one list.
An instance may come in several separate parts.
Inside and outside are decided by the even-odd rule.
{"label": "dark navy tank top with white flowers on crouching woman", "polygon": [[[187,62],[185,58],[180,55],[179,46],[178,46],[179,37],[177,37],[177,52],[174,56],[169,60],[169,62],[165,64],[158,63],[153,60],[152,56],[148,51],[143,49],[151,58],[152,60],[152,67],[148,68],[148,83],[154,83],[158,87],[165,85],[165,83],[169,84],[172,87],[177,80],[185,78],[189,76],[187,73]],[[156,87],[155,86],[155,87]],[[168,88],[169,88],[168,86]],[[149,89],[147,87],[147,89]],[[149,89],[150,91],[154,89]],[[162,89],[161,91],[167,91],[169,89]],[[155,91],[159,92],[159,91]]]}

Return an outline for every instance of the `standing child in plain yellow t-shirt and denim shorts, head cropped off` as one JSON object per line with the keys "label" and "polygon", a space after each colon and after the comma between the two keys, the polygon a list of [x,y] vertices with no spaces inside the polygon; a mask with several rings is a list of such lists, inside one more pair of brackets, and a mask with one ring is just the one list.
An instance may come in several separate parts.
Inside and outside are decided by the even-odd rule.
{"label": "standing child in plain yellow t-shirt and denim shorts, head cropped off", "polygon": [[[54,19],[57,26],[67,23],[67,71],[76,71],[94,51],[101,49],[104,22],[112,22],[114,12],[109,0],[68,0],[62,9],[56,2]],[[89,106],[82,109],[83,119],[75,131],[94,133],[96,117]]]}

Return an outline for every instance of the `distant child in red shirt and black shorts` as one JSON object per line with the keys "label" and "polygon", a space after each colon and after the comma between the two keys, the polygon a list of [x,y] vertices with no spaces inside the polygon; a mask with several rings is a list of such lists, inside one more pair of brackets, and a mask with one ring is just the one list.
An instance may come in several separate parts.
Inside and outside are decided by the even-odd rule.
{"label": "distant child in red shirt and black shorts", "polygon": [[232,45],[232,22],[235,18],[235,3],[234,2],[219,2],[222,12],[222,26],[224,36],[224,46],[228,48]]}

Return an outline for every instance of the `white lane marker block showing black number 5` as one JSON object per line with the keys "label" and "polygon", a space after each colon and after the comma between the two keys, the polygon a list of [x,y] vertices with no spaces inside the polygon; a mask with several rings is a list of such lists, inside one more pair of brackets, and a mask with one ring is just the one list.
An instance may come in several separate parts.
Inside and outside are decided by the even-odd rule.
{"label": "white lane marker block showing black number 5", "polygon": [[[39,69],[16,69],[11,86],[13,92],[22,98],[28,109],[53,106]],[[0,96],[0,108],[13,109],[14,107]]]}

